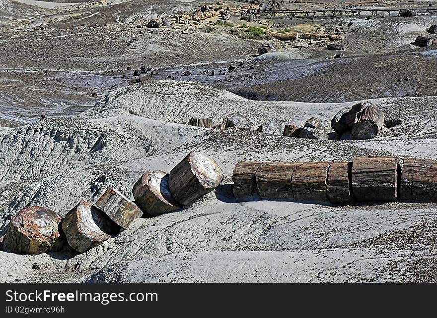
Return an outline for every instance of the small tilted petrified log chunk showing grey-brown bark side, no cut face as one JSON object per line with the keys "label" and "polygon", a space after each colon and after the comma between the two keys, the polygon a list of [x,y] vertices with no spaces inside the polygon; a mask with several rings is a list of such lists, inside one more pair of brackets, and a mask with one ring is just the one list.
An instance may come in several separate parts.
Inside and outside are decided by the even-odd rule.
{"label": "small tilted petrified log chunk showing grey-brown bark side, no cut face", "polygon": [[108,188],[102,194],[96,206],[123,229],[127,229],[129,224],[143,215],[132,201],[113,188]]}

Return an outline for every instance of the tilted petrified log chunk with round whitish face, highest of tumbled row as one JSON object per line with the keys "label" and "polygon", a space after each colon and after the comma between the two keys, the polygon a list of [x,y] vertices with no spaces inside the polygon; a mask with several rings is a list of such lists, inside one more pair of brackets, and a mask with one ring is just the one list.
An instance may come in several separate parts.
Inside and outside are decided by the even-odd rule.
{"label": "tilted petrified log chunk with round whitish face, highest of tumbled row", "polygon": [[222,179],[214,159],[192,151],[171,169],[168,185],[176,202],[187,206],[217,188]]}

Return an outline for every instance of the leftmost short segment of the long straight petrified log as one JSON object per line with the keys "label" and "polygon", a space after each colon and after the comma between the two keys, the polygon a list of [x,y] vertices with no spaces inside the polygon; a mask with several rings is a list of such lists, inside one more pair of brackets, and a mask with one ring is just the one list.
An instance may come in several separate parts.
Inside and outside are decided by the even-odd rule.
{"label": "leftmost short segment of the long straight petrified log", "polygon": [[233,193],[236,199],[251,197],[257,193],[256,171],[263,162],[241,161],[238,162],[232,171],[234,182]]}

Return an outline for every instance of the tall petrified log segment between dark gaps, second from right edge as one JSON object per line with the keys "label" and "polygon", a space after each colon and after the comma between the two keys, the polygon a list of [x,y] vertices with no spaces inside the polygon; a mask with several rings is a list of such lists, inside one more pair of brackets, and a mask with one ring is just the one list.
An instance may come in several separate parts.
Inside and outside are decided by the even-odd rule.
{"label": "tall petrified log segment between dark gaps, second from right edge", "polygon": [[358,202],[391,202],[397,198],[398,159],[354,158],[352,193]]}

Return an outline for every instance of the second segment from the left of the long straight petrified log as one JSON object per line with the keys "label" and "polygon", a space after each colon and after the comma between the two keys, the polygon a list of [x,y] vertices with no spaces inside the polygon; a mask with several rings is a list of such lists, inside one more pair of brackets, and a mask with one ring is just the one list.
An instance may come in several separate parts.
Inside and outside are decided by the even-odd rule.
{"label": "second segment from the left of the long straight petrified log", "polygon": [[298,162],[266,162],[256,171],[256,187],[262,199],[294,199],[291,176]]}

